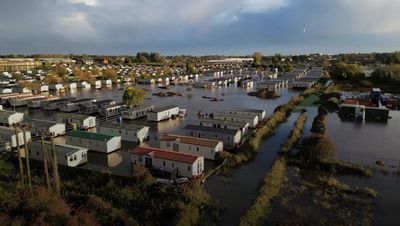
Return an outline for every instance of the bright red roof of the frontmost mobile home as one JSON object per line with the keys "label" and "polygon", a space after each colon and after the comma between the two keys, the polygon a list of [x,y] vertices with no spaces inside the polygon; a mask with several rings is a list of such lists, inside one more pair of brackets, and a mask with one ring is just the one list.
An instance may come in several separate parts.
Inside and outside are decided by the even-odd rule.
{"label": "bright red roof of the frontmost mobile home", "polygon": [[151,155],[154,158],[167,159],[176,162],[193,164],[200,156],[182,152],[167,151],[156,148],[136,147],[132,150],[133,155]]}

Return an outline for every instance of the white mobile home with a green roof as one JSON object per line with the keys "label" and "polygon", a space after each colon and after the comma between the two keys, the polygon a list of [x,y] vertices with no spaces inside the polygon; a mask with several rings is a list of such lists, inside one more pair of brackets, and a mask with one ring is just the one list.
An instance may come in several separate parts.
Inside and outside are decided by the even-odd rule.
{"label": "white mobile home with a green roof", "polygon": [[121,148],[120,136],[73,130],[67,132],[65,138],[67,144],[84,147],[102,153],[110,153]]}

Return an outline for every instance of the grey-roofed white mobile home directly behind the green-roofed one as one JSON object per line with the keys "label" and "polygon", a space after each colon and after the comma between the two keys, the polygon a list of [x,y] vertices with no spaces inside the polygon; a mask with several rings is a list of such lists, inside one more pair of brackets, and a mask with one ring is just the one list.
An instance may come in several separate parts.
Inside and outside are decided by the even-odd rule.
{"label": "grey-roofed white mobile home directly behind the green-roofed one", "polygon": [[147,126],[121,123],[106,123],[97,128],[99,133],[121,136],[122,140],[140,143],[149,137],[150,130],[150,127]]}

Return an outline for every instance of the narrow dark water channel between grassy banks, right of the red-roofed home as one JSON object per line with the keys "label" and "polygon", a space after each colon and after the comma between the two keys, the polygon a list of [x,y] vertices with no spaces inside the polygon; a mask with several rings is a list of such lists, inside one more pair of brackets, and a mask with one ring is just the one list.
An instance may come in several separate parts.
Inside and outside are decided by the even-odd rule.
{"label": "narrow dark water channel between grassy banks, right of the red-roofed home", "polygon": [[226,175],[214,175],[204,184],[205,190],[225,206],[220,225],[237,225],[240,216],[253,204],[261,182],[278,157],[280,145],[285,143],[298,117],[293,113],[276,133],[264,140],[254,160],[233,169]]}

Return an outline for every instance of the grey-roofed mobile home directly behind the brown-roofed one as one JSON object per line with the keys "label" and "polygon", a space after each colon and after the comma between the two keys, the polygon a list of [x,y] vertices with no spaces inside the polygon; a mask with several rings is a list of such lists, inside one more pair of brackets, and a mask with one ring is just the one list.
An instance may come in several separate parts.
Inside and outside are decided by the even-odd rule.
{"label": "grey-roofed mobile home directly behind the brown-roofed one", "polygon": [[242,133],[236,129],[222,129],[198,125],[186,125],[185,135],[198,138],[221,140],[224,148],[233,149],[240,145]]}

